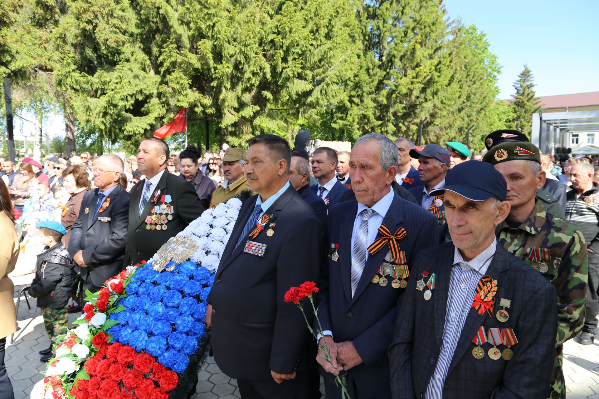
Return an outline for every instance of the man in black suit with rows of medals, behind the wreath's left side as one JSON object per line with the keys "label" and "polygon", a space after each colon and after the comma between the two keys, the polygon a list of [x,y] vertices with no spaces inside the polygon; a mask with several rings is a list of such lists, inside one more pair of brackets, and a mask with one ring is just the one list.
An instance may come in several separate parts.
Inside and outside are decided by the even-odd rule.
{"label": "man in black suit with rows of medals, behind the wreath's left side", "polygon": [[169,155],[168,145],[155,137],[143,139],[137,150],[137,169],[146,178],[131,189],[126,264],[149,260],[204,212],[193,185],[166,172]]}

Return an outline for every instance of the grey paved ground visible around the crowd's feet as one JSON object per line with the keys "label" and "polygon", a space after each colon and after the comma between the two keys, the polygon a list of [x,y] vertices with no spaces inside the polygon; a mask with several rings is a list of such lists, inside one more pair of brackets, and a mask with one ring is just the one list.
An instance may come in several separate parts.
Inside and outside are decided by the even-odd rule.
{"label": "grey paved ground visible around the crowd's feet", "polygon": [[[16,288],[19,292],[21,287]],[[15,303],[16,303],[15,294]],[[19,331],[14,334],[14,342],[7,338],[6,366],[13,382],[16,399],[43,399],[43,374],[46,364],[40,362],[38,351],[49,345],[40,310],[35,309],[35,299],[29,299],[32,309],[21,300],[17,324]],[[73,321],[74,315],[69,319]],[[599,343],[579,345],[574,340],[565,343],[564,374],[568,389],[568,399],[599,399]],[[196,394],[192,399],[235,399],[239,398],[237,382],[223,374],[208,358],[204,370],[199,371]]]}

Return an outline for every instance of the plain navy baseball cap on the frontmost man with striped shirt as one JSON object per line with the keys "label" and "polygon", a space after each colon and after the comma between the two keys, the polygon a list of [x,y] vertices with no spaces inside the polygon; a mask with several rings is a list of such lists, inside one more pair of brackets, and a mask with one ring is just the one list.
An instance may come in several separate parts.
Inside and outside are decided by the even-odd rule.
{"label": "plain navy baseball cap on the frontmost man with striped shirt", "polygon": [[507,196],[507,184],[503,175],[490,163],[477,160],[458,163],[449,169],[445,176],[445,187],[432,190],[430,194],[443,194],[446,190],[476,202],[492,196],[505,201]]}

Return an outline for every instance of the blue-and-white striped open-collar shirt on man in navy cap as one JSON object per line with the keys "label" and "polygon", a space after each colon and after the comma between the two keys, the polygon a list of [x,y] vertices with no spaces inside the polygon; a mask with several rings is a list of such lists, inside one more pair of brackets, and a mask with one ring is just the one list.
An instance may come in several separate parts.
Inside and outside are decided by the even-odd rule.
{"label": "blue-and-white striped open-collar shirt on man in navy cap", "polygon": [[447,377],[447,370],[453,358],[453,352],[458,345],[462,328],[466,322],[468,312],[476,293],[476,285],[485,275],[493,255],[497,249],[497,239],[480,254],[470,261],[464,261],[458,248],[453,252],[453,267],[447,296],[447,310],[443,327],[443,343],[441,352],[432,373],[431,380],[426,389],[426,399],[442,399],[443,386]]}

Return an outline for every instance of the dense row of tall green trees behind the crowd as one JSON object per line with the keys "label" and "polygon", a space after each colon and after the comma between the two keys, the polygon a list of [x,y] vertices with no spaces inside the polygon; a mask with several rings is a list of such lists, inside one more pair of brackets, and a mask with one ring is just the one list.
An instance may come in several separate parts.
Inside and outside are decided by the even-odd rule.
{"label": "dense row of tall green trees behind the crowd", "polygon": [[0,17],[0,75],[47,75],[67,151],[76,130],[132,152],[180,108],[213,148],[299,128],[415,138],[427,117],[426,142],[475,123],[478,140],[507,117],[484,33],[438,0],[6,0]]}

